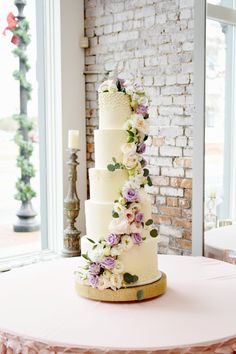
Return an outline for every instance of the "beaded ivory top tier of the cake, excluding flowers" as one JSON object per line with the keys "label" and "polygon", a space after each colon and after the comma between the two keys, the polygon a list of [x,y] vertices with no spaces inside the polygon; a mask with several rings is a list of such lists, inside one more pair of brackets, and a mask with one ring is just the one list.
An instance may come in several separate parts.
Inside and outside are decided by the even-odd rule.
{"label": "beaded ivory top tier of the cake, excluding flowers", "polygon": [[123,92],[99,94],[99,130],[124,129],[131,115],[130,98]]}

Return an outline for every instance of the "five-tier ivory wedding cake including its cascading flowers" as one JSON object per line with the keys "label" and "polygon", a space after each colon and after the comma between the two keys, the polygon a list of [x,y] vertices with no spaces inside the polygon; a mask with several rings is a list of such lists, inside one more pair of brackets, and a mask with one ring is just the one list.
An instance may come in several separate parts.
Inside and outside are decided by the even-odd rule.
{"label": "five-tier ivory wedding cake including its cascading flowers", "polygon": [[157,230],[144,190],[145,184],[151,185],[142,156],[147,107],[140,84],[118,79],[99,87],[95,168],[89,170],[87,235],[81,239],[84,262],[76,272],[87,288],[122,290],[156,282],[162,275],[157,267]]}

